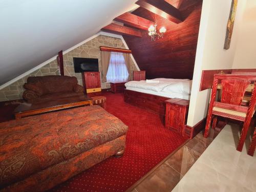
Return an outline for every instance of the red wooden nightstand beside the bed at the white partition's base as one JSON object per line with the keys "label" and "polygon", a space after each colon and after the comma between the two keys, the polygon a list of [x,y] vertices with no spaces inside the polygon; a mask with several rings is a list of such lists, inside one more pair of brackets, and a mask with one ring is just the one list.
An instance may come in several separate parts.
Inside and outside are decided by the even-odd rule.
{"label": "red wooden nightstand beside the bed at the white partition's base", "polygon": [[164,102],[166,103],[165,127],[184,136],[189,100],[174,98]]}

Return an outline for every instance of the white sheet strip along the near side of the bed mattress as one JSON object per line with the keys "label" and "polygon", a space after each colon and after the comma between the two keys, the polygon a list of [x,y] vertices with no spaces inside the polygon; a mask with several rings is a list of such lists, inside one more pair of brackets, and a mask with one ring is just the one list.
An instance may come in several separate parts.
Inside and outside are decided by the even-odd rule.
{"label": "white sheet strip along the near side of the bed mattress", "polygon": [[179,99],[186,99],[186,100],[190,99],[190,95],[180,94],[180,93],[155,92],[155,91],[151,91],[151,90],[133,88],[133,87],[129,87],[129,86],[126,86],[126,90],[137,91],[140,93],[147,93],[147,94],[157,95],[157,96],[161,96],[161,97],[167,97],[170,99],[172,99],[172,98],[179,98]]}

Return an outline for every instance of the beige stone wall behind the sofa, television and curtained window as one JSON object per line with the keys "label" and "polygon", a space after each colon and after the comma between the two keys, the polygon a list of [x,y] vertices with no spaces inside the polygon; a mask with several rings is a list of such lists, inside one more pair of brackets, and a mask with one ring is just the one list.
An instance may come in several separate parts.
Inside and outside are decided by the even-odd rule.
{"label": "beige stone wall behind the sofa, television and curtained window", "polygon": [[[101,71],[101,59],[100,59],[100,46],[106,47],[116,47],[124,48],[125,46],[120,38],[110,37],[105,35],[99,35],[94,39],[86,42],[85,44],[75,48],[69,53],[63,55],[64,62],[64,74],[67,76],[77,77],[78,83],[82,85],[82,76],[81,73],[74,72],[73,57],[87,57],[87,58],[98,58],[99,59],[99,71]],[[137,68],[130,57],[130,74],[133,79],[133,71],[137,71]],[[48,63],[44,67],[34,71],[33,73],[23,77],[22,79],[17,80],[12,83],[10,86],[0,90],[0,101],[22,99],[22,94],[24,92],[23,85],[27,82],[29,76],[45,76],[45,75],[59,75],[57,60]],[[102,75],[102,74],[101,74]],[[102,83],[101,88],[107,89],[110,88],[110,83]]]}

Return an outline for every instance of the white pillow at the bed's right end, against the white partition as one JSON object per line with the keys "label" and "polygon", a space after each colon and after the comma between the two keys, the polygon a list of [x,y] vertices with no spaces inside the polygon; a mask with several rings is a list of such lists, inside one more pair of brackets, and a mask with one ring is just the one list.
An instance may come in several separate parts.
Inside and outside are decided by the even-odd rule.
{"label": "white pillow at the bed's right end, against the white partition", "polygon": [[190,95],[191,86],[192,86],[192,80],[177,82],[163,88],[162,91]]}

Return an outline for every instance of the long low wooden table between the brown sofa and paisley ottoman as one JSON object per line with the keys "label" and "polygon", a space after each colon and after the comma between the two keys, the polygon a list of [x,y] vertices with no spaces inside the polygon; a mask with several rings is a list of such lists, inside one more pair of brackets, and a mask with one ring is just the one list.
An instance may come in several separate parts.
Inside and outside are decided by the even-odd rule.
{"label": "long low wooden table between the brown sofa and paisley ottoman", "polygon": [[22,117],[75,108],[84,105],[93,105],[92,99],[86,95],[66,97],[54,101],[42,101],[39,103],[24,102],[17,106],[17,108],[14,110],[14,115],[16,119],[19,119]]}

